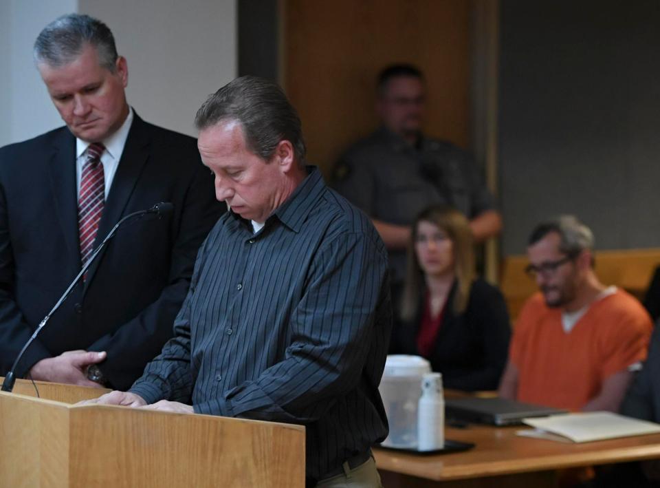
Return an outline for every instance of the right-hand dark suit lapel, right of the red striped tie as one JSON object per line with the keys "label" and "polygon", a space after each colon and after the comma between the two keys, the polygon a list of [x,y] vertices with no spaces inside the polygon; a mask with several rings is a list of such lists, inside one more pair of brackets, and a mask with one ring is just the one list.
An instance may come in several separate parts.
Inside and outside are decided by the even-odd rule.
{"label": "right-hand dark suit lapel, right of the red striped tie", "polygon": [[[133,124],[131,125],[129,136],[126,138],[122,158],[119,161],[119,166],[112,180],[101,221],[98,224],[98,232],[94,240],[95,249],[103,242],[105,236],[111,231],[113,226],[124,216],[126,205],[131,199],[137,180],[140,178],[142,169],[144,169],[144,165],[149,158],[150,147],[151,137],[148,134],[147,126],[133,112]],[[111,244],[108,243],[108,245]],[[87,270],[85,291],[89,283],[91,283],[98,266],[100,266],[103,254],[104,251],[101,251],[96,261]]]}

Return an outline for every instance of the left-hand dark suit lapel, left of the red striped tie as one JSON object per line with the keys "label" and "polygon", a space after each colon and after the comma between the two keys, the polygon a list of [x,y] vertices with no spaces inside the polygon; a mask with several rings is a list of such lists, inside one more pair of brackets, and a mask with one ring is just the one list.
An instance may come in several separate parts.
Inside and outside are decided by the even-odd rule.
{"label": "left-hand dark suit lapel, left of the red striped tie", "polygon": [[80,268],[80,243],[78,242],[78,191],[76,189],[76,138],[63,128],[53,145],[48,165],[55,200],[55,211],[63,229],[69,253]]}

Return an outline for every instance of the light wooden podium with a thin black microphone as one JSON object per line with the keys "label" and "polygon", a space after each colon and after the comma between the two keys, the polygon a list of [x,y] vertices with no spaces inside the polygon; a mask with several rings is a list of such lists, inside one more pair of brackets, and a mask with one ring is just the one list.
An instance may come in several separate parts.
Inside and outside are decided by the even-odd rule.
{"label": "light wooden podium with a thin black microphone", "polygon": [[108,390],[0,392],[0,487],[300,487],[305,427],[107,405]]}

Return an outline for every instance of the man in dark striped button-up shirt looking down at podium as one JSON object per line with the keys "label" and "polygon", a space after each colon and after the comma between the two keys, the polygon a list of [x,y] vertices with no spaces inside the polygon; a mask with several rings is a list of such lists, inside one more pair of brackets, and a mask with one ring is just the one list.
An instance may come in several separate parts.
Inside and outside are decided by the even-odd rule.
{"label": "man in dark striped button-up shirt looking down at podium", "polygon": [[370,447],[388,432],[378,384],[392,319],[382,240],[305,166],[300,119],[275,83],[237,78],[195,123],[230,211],[199,251],[175,337],[129,392],[98,401],[302,424],[309,486],[379,487]]}

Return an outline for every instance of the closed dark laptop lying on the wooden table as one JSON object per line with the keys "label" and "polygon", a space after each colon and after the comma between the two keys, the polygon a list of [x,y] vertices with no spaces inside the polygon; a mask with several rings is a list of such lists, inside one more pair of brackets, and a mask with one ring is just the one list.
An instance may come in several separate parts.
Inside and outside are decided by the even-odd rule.
{"label": "closed dark laptop lying on the wooden table", "polygon": [[459,399],[445,399],[445,417],[454,421],[489,425],[520,425],[523,418],[566,413],[568,413],[568,410],[500,398],[469,396]]}

